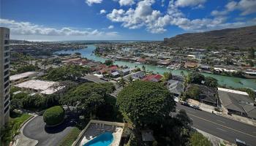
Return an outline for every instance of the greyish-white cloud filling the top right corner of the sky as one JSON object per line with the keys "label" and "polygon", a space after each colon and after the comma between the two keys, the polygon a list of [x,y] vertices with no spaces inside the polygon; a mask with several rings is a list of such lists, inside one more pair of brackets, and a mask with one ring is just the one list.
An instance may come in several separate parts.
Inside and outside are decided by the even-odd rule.
{"label": "greyish-white cloud filling the top right corner of the sky", "polygon": [[227,15],[229,12],[234,10],[240,10],[241,15],[249,15],[256,12],[256,1],[255,0],[241,0],[241,1],[230,1],[225,5],[225,9],[222,11],[214,10],[211,15]]}

